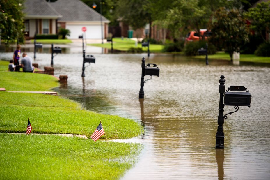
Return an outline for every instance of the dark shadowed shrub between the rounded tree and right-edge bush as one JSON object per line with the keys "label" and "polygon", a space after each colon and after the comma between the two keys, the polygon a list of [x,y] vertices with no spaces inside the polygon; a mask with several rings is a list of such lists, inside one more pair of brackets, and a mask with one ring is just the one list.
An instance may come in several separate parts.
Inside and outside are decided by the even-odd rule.
{"label": "dark shadowed shrub between the rounded tree and right-edge bush", "polygon": [[240,47],[240,53],[243,54],[254,54],[255,50],[260,44],[264,42],[261,36],[250,35],[249,42]]}

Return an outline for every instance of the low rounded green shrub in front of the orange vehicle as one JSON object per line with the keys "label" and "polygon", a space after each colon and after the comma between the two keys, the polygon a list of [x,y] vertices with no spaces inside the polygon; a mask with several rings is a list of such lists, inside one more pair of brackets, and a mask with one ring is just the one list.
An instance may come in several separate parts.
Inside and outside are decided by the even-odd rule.
{"label": "low rounded green shrub in front of the orange vehicle", "polygon": [[[206,41],[189,42],[184,47],[184,54],[186,56],[196,56],[198,55],[198,50],[200,48],[205,48],[206,43],[207,43]],[[207,54],[215,54],[215,53],[216,53],[216,47],[213,44],[208,43]]]}

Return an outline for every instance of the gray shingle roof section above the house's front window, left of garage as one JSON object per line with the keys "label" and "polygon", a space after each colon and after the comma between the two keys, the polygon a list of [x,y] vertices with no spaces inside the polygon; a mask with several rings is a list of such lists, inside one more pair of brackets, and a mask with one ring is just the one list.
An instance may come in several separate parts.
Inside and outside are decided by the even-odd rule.
{"label": "gray shingle roof section above the house's front window, left of garage", "polygon": [[24,2],[25,9],[23,10],[26,17],[29,16],[51,16],[51,17],[61,17],[50,3],[46,0],[26,0]]}

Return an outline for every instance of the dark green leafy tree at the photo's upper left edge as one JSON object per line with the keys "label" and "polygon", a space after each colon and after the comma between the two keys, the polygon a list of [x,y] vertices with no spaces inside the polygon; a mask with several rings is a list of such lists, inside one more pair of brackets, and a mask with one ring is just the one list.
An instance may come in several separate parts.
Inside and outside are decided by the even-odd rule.
{"label": "dark green leafy tree at the photo's upper left edge", "polygon": [[24,14],[22,12],[23,0],[1,0],[0,29],[1,39],[6,44],[10,42],[23,43]]}

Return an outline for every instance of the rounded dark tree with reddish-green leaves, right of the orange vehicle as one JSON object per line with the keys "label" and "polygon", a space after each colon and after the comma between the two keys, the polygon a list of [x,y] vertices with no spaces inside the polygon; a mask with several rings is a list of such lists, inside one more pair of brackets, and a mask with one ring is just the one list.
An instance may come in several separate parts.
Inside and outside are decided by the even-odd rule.
{"label": "rounded dark tree with reddish-green leaves, right of the orange vehicle", "polygon": [[214,13],[210,41],[217,47],[224,48],[232,60],[233,52],[239,52],[240,46],[248,42],[248,27],[242,14],[237,9],[219,8]]}

